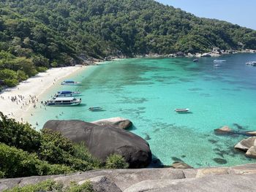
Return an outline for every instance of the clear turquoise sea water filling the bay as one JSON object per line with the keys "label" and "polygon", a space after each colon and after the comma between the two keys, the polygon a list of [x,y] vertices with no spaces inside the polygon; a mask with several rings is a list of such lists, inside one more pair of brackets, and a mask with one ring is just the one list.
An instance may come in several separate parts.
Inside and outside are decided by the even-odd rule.
{"label": "clear turquoise sea water filling the bay", "polygon": [[[73,80],[80,86],[56,85],[56,91],[82,91],[77,107],[34,109],[29,118],[37,129],[50,119],[86,121],[124,117],[130,130],[148,140],[152,153],[163,164],[181,159],[200,166],[256,163],[233,146],[244,136],[216,136],[214,129],[230,126],[238,131],[256,130],[256,67],[246,66],[256,54],[224,55],[227,62],[214,67],[215,58],[129,58],[90,66]],[[91,112],[89,107],[103,107]],[[175,108],[189,108],[178,114]]]}

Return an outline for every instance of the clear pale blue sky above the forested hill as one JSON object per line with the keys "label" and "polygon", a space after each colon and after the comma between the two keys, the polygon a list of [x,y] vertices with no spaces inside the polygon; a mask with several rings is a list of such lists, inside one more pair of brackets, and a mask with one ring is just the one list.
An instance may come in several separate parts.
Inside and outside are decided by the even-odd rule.
{"label": "clear pale blue sky above the forested hill", "polygon": [[157,0],[200,18],[226,20],[256,30],[256,0]]}

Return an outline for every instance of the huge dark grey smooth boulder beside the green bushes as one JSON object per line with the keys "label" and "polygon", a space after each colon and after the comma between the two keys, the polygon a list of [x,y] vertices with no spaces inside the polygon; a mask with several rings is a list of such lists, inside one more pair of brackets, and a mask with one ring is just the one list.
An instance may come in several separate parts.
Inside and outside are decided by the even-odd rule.
{"label": "huge dark grey smooth boulder beside the green bushes", "polygon": [[82,120],[48,120],[43,128],[59,131],[72,142],[84,142],[89,152],[105,162],[109,155],[122,155],[129,168],[142,168],[151,162],[148,142],[120,128],[98,126]]}

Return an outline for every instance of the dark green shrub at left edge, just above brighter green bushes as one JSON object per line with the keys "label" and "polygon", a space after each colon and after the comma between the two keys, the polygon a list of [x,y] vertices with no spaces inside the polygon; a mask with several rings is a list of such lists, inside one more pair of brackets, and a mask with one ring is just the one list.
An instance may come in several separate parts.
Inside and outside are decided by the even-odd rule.
{"label": "dark green shrub at left edge, just above brighter green bushes", "polygon": [[39,150],[40,139],[28,123],[18,123],[0,112],[0,142],[33,153]]}

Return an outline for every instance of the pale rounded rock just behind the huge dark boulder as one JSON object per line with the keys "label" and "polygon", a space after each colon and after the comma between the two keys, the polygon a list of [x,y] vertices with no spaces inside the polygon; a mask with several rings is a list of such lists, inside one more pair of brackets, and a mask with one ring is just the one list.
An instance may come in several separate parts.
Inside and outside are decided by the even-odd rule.
{"label": "pale rounded rock just behind the huge dark boulder", "polygon": [[130,128],[132,126],[132,121],[126,118],[108,118],[102,120],[96,120],[91,123],[97,124],[99,126],[113,126],[116,128]]}

